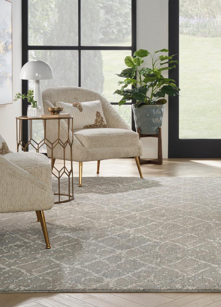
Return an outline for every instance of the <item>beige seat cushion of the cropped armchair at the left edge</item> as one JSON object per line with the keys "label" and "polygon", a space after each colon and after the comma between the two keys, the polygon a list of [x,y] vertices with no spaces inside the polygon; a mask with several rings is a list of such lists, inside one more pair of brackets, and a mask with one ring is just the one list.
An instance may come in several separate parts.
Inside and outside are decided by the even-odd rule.
{"label": "beige seat cushion of the cropped armchair at the left edge", "polygon": [[4,158],[51,187],[51,163],[44,154],[32,152],[7,153]]}

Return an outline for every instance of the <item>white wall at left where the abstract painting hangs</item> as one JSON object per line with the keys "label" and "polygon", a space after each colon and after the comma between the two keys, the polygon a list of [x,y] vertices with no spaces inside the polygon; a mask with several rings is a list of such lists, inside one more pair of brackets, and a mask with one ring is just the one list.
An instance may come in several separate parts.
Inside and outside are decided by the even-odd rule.
{"label": "white wall at left where the abstract painting hangs", "polygon": [[[12,2],[12,77],[13,96],[21,92],[21,80],[19,73],[21,70],[21,0],[11,0]],[[1,97],[0,97],[1,99]],[[21,101],[16,101],[8,105],[0,106],[0,134],[5,139],[10,150],[17,151],[16,148],[16,116],[21,115]]]}

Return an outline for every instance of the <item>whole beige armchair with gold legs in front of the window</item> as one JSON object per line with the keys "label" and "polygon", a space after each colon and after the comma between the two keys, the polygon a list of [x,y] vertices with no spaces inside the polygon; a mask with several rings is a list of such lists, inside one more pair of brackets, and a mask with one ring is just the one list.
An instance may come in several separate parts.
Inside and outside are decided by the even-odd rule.
{"label": "whole beige armchair with gold legs in front of the window", "polygon": [[[72,146],[73,161],[79,162],[79,186],[82,186],[82,165],[85,161],[97,161],[99,173],[100,161],[114,158],[135,157],[140,177],[143,178],[138,157],[142,155],[142,143],[138,133],[124,122],[119,113],[112,107],[105,97],[90,89],[82,87],[51,87],[42,92],[44,114],[50,114],[48,107],[54,107],[56,101],[66,103],[100,100],[108,128],[74,130]],[[65,142],[67,140],[67,123],[60,120],[59,134]],[[46,136],[49,141],[55,142],[58,136],[58,121],[48,121]],[[71,135],[71,130],[69,131]],[[70,161],[70,150],[63,153],[61,146],[53,150],[47,147],[48,157],[54,165],[55,159]]]}

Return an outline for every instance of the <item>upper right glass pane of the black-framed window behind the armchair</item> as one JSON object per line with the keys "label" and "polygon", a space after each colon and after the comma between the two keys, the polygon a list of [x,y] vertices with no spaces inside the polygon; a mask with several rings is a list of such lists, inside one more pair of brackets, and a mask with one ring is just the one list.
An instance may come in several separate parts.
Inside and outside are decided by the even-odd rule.
{"label": "upper right glass pane of the black-framed window behind the armchair", "polygon": [[81,45],[131,46],[131,0],[81,0]]}

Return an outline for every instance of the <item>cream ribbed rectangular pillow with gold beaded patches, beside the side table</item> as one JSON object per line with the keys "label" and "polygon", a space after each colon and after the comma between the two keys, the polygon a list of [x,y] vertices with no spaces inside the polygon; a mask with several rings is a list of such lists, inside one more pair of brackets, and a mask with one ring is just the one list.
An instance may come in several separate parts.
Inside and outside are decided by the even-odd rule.
{"label": "cream ribbed rectangular pillow with gold beaded patches, beside the side table", "polygon": [[56,101],[55,107],[63,107],[63,113],[74,116],[74,130],[108,127],[100,100],[73,103]]}

